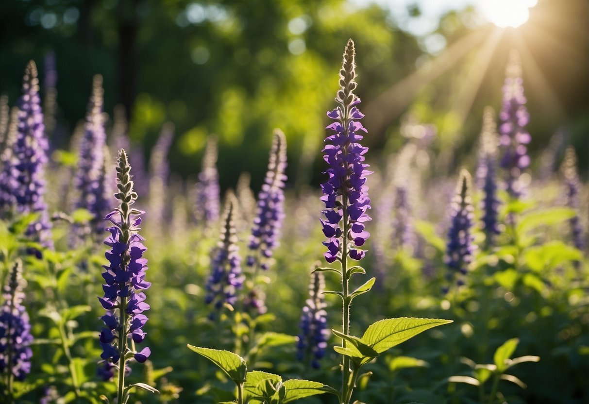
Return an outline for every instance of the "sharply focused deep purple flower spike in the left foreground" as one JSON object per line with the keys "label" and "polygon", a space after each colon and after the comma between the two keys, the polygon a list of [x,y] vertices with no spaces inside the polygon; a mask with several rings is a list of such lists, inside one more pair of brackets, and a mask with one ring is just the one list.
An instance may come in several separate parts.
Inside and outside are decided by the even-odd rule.
{"label": "sharply focused deep purple flower spike in the left foreground", "polygon": [[133,356],[137,362],[145,362],[151,350],[144,347],[139,352],[134,352],[128,339],[131,337],[134,343],[140,343],[145,338],[143,326],[147,322],[147,316],[143,314],[149,309],[145,303],[145,293],[139,292],[151,286],[145,280],[147,260],[143,258],[145,246],[143,237],[138,234],[141,224],[142,211],[133,208],[137,194],[133,190],[131,181],[131,165],[128,163],[127,153],[120,150],[117,162],[117,188],[115,198],[120,201],[118,208],[106,217],[114,226],[107,230],[110,236],[104,241],[110,250],[105,254],[108,265],[104,266],[102,277],[105,283],[102,285],[104,297],[98,297],[102,307],[107,313],[101,317],[105,327],[100,333],[100,345],[104,365],[100,369],[100,375],[108,380],[112,377],[113,370],[125,369],[125,361]]}

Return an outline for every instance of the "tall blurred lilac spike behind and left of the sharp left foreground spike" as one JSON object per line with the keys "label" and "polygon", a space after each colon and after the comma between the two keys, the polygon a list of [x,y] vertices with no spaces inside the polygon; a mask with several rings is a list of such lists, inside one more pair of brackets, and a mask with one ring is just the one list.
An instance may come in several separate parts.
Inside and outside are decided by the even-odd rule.
{"label": "tall blurred lilac spike behind and left of the sharp left foreground spike", "polygon": [[104,204],[104,188],[100,183],[102,165],[104,164],[104,145],[106,134],[104,131],[104,90],[102,90],[102,76],[95,75],[92,80],[92,95],[88,103],[88,112],[84,124],[84,135],[80,140],[78,153],[78,167],[75,186],[79,192],[78,208],[84,208],[92,213],[92,228],[97,234],[104,231],[102,218],[110,210]]}

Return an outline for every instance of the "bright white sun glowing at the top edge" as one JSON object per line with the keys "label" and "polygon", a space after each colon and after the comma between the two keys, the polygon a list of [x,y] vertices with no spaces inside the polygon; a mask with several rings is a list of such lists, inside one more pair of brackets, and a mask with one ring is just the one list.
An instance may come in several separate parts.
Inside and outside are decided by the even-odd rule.
{"label": "bright white sun glowing at the top edge", "polygon": [[530,18],[530,8],[537,0],[482,0],[481,11],[500,28],[517,28]]}

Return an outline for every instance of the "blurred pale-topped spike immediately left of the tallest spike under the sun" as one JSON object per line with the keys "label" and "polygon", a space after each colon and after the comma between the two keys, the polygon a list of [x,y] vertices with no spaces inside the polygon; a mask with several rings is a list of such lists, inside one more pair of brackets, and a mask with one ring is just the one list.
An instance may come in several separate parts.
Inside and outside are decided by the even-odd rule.
{"label": "blurred pale-topped spike immediately left of the tallest spike under the sun", "polygon": [[484,196],[481,200],[482,225],[485,232],[485,244],[493,245],[494,237],[499,234],[497,198],[497,125],[494,111],[486,107],[483,112],[483,124],[480,138],[477,183]]}

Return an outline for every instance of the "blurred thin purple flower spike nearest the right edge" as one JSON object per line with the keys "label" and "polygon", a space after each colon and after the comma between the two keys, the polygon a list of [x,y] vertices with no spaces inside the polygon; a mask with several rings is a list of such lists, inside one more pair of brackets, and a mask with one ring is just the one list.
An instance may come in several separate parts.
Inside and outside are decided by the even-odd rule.
{"label": "blurred thin purple flower spike nearest the right edge", "polygon": [[571,226],[571,240],[576,249],[584,251],[585,240],[583,237],[583,228],[578,216],[580,207],[579,194],[581,182],[577,173],[577,154],[573,147],[568,147],[564,155],[564,161],[561,166],[562,175],[564,176],[565,195],[567,206],[574,209],[577,214],[571,217],[568,223]]}

